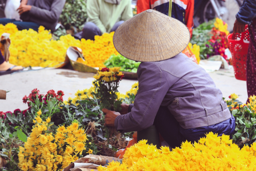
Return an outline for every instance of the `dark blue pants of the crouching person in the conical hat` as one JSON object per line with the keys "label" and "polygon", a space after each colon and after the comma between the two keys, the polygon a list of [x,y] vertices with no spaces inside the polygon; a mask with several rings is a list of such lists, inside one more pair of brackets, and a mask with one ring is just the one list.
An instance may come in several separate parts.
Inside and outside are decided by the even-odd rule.
{"label": "dark blue pants of the crouching person in the conical hat", "polygon": [[154,120],[157,131],[172,148],[180,147],[181,143],[186,140],[191,143],[197,142],[209,132],[218,133],[218,136],[222,136],[222,134],[229,135],[232,138],[231,135],[234,134],[235,124],[236,121],[231,116],[230,119],[221,123],[185,130],[165,106],[160,106]]}

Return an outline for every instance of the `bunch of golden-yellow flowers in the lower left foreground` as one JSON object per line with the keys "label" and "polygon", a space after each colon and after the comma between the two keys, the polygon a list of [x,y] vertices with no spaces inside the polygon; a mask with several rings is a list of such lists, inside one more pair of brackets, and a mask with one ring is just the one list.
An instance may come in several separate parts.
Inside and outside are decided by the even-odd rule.
{"label": "bunch of golden-yellow flowers in the lower left foreground", "polygon": [[56,134],[50,132],[48,118],[42,121],[38,115],[32,133],[25,142],[24,147],[19,147],[19,167],[22,170],[61,170],[70,163],[78,160],[78,154],[86,149],[87,136],[83,129],[78,129],[78,123],[70,126],[59,126]]}

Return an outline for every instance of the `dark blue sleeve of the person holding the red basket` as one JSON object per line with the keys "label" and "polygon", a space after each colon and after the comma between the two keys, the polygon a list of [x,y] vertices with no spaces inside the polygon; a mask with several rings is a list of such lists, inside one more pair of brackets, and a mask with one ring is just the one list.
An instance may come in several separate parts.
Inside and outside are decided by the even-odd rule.
{"label": "dark blue sleeve of the person holding the red basket", "polygon": [[244,0],[243,5],[236,15],[238,22],[250,25],[254,17],[256,17],[256,1]]}

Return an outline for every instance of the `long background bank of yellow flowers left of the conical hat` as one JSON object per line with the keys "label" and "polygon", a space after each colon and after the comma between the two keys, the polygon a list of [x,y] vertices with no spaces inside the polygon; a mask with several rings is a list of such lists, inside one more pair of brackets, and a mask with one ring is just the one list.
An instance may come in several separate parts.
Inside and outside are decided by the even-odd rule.
{"label": "long background bank of yellow flowers left of the conical hat", "polygon": [[[112,54],[119,54],[113,44],[114,32],[95,36],[95,40],[76,40],[73,36],[61,36],[53,40],[52,35],[43,26],[38,32],[29,29],[18,31],[16,25],[8,23],[0,25],[0,35],[10,33],[10,63],[23,67],[58,67],[65,61],[66,51],[70,46],[82,49],[86,61],[78,58],[78,62],[91,67],[104,67],[103,62]],[[0,47],[2,53],[4,49]]]}

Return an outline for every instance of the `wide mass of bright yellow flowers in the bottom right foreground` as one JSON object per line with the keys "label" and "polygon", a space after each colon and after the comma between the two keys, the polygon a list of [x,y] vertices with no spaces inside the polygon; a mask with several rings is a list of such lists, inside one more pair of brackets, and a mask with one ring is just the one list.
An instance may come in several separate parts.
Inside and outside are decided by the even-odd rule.
{"label": "wide mass of bright yellow flowers in the bottom right foreground", "polygon": [[113,161],[98,170],[256,170],[256,143],[240,149],[229,136],[209,133],[170,152],[169,147],[157,149],[142,140],[126,150],[122,164]]}

